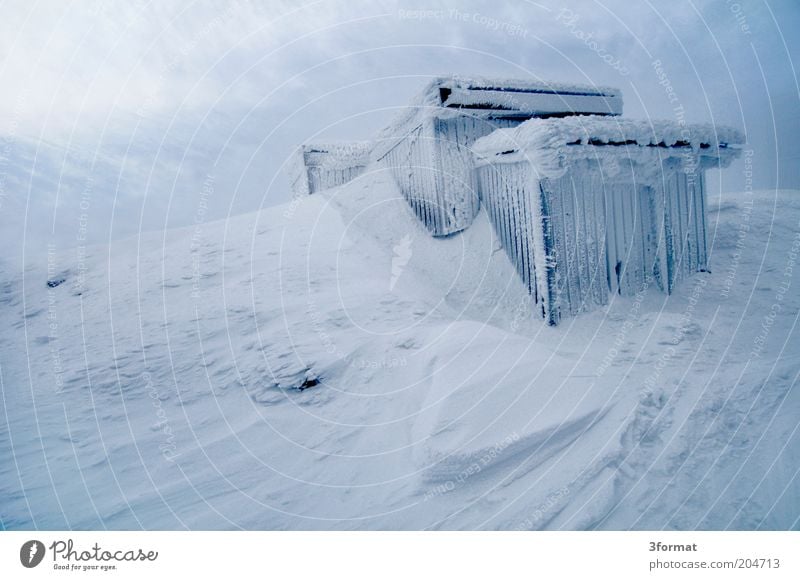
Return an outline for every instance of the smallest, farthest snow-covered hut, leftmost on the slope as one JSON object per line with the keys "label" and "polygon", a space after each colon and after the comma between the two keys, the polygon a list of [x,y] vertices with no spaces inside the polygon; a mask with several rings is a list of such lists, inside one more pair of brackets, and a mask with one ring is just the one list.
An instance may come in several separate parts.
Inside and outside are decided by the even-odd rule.
{"label": "smallest, farthest snow-covered hut, leftmost on the slope", "polygon": [[371,143],[314,143],[297,148],[289,166],[294,195],[308,195],[343,185],[364,172]]}

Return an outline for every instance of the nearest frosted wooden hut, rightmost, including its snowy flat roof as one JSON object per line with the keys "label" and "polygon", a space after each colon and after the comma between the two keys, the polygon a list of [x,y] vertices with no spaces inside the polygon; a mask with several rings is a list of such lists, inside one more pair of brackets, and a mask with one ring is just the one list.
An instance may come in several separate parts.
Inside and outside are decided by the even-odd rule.
{"label": "nearest frosted wooden hut, rightmost, including its snowy flat roof", "polygon": [[704,172],[742,142],[729,128],[584,116],[500,129],[473,151],[498,238],[557,324],[705,269]]}

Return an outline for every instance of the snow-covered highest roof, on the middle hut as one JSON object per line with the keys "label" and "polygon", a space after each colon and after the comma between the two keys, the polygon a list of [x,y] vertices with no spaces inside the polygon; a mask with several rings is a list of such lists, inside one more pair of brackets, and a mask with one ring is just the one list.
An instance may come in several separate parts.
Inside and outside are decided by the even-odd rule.
{"label": "snow-covered highest roof, on the middle hut", "polygon": [[442,76],[428,82],[377,138],[378,157],[398,138],[432,118],[470,115],[518,118],[548,115],[621,115],[619,89],[528,79]]}

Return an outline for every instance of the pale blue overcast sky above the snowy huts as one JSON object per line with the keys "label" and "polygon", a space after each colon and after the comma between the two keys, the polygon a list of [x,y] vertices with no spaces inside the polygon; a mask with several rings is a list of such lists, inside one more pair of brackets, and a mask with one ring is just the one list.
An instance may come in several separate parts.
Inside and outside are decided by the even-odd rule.
{"label": "pale blue overcast sky above the snowy huts", "polygon": [[[2,4],[6,259],[283,203],[295,146],[368,139],[443,73],[677,104],[745,131],[756,187],[800,187],[796,0],[123,4]],[[709,184],[742,189],[741,163]]]}

